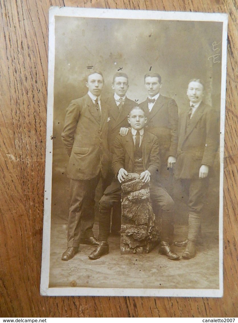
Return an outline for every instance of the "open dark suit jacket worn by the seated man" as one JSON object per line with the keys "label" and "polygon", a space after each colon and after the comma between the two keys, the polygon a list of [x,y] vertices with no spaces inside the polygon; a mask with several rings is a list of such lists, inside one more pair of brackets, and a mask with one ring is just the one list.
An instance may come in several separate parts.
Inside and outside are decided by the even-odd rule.
{"label": "open dark suit jacket worn by the seated man", "polygon": [[[157,138],[151,133],[144,131],[142,140],[142,156],[144,170],[151,173],[151,179],[156,181],[160,167],[159,143]],[[134,141],[131,131],[127,136],[118,135],[114,141],[114,154],[112,169],[115,177],[121,168],[127,172],[133,172],[134,167]]]}

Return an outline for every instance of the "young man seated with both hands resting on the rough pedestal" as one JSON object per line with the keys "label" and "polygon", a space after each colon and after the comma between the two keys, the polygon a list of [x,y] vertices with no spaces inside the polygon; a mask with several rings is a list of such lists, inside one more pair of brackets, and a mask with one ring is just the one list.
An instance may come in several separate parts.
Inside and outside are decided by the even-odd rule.
{"label": "young man seated with both hands resting on the rough pedestal", "polygon": [[[144,130],[147,121],[142,108],[131,109],[128,122],[131,131],[127,136],[118,135],[114,141],[114,156],[112,169],[114,181],[109,185],[99,202],[99,246],[90,255],[90,259],[98,259],[109,252],[107,242],[110,233],[110,214],[113,204],[121,200],[121,183],[129,173],[140,174],[140,179],[150,182],[150,196],[156,209],[160,209],[162,216],[162,241],[159,253],[169,259],[179,259],[179,256],[170,249],[171,222],[174,218],[174,201],[171,196],[156,182],[160,166],[159,144],[157,138]],[[156,214],[155,214],[156,215]]]}

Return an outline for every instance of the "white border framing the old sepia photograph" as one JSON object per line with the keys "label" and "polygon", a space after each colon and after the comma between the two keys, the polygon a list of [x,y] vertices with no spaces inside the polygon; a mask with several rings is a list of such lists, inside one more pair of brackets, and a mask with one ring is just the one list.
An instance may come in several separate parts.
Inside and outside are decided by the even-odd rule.
{"label": "white border framing the old sepia photograph", "polygon": [[[54,106],[54,70],[55,70],[55,17],[90,17],[117,19],[155,19],[183,21],[212,21],[223,23],[222,38],[222,80],[221,80],[221,123],[220,123],[220,198],[219,198],[219,289],[141,289],[141,288],[86,288],[54,287],[49,288],[50,271],[50,227],[52,194],[52,155],[53,155],[53,106]],[[227,57],[228,15],[220,13],[161,12],[121,9],[91,9],[51,7],[49,10],[49,68],[47,131],[45,161],[45,197],[43,249],[40,293],[43,296],[170,296],[170,297],[222,297],[223,296],[223,155],[225,123],[225,89]]]}

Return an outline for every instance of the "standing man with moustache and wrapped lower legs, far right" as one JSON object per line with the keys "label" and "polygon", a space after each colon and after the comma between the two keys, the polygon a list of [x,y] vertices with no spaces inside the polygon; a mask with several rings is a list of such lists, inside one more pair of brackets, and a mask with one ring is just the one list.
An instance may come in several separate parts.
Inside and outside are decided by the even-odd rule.
{"label": "standing man with moustache and wrapped lower legs, far right", "polygon": [[202,101],[203,95],[202,81],[192,79],[187,89],[190,107],[179,120],[175,177],[188,193],[189,218],[187,239],[175,242],[175,245],[186,246],[184,258],[193,258],[196,254],[202,209],[219,145],[219,116]]}

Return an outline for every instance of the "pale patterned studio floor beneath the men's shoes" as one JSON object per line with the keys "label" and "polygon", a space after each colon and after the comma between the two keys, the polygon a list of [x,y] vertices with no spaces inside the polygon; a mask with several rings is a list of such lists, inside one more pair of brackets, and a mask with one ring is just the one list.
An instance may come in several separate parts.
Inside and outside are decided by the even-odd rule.
{"label": "pale patterned studio floor beneath the men's shoes", "polygon": [[[181,221],[180,221],[181,222]],[[174,240],[181,239],[187,228],[175,223]],[[98,235],[98,224],[94,224]],[[90,260],[94,247],[81,245],[79,253],[62,261],[66,248],[67,224],[55,220],[51,230],[49,287],[97,288],[219,288],[218,227],[212,221],[203,223],[203,245],[197,247],[195,258],[172,261],[158,255],[158,247],[149,254],[121,255],[120,237],[110,236],[109,254]],[[180,256],[183,248],[172,246]]]}

